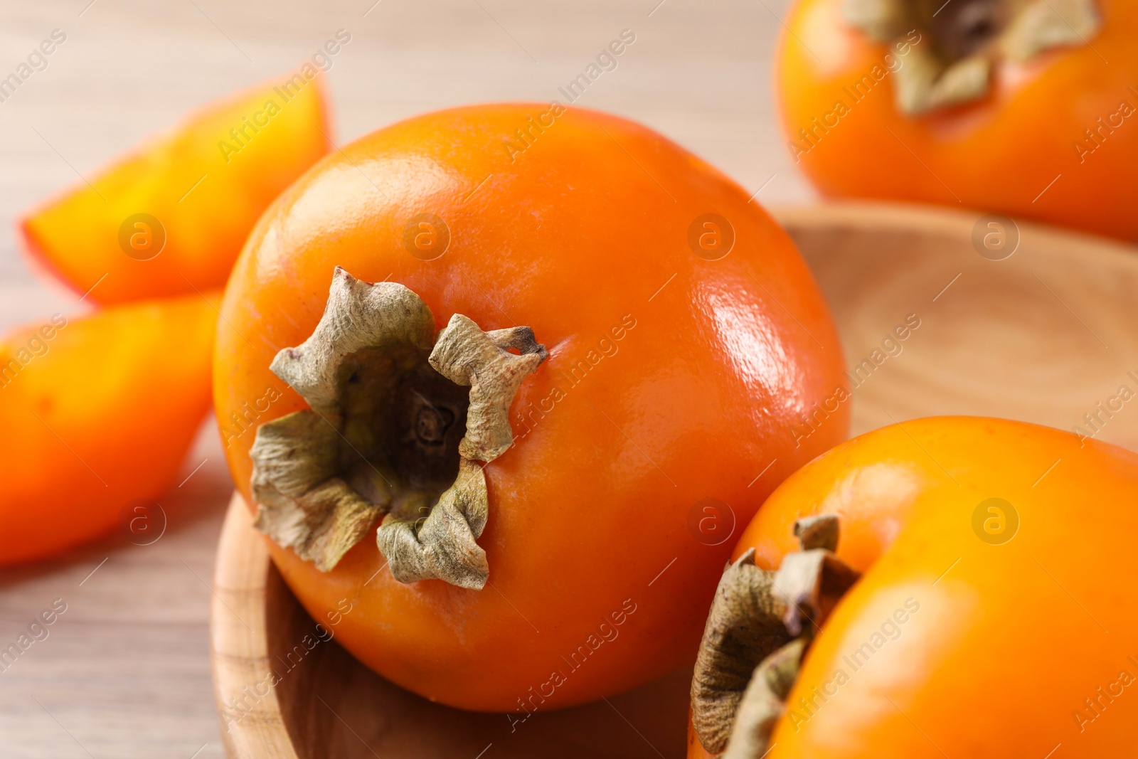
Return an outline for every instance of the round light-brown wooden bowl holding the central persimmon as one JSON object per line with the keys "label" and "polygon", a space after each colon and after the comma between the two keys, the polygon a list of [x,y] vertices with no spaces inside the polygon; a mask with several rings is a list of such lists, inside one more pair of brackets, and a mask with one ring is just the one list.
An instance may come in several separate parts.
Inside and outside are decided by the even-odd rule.
{"label": "round light-brown wooden bowl holding the central persimmon", "polygon": [[[1120,394],[1123,385],[1138,391],[1132,248],[1005,224],[1007,241],[998,253],[983,246],[984,234],[999,232],[987,220],[973,244],[979,214],[918,207],[841,204],[776,215],[838,321],[856,388],[855,432],[931,414],[983,414],[1082,426],[1087,435],[1138,447],[1138,409],[1129,409],[1138,398]],[[1013,247],[1009,257],[992,259]],[[823,415],[811,423],[824,423]],[[412,695],[335,640],[302,645],[299,655],[296,646],[314,630],[234,496],[218,547],[212,620],[229,756],[684,756],[690,669],[512,726],[505,715],[463,712]],[[280,682],[269,687],[273,673]]]}

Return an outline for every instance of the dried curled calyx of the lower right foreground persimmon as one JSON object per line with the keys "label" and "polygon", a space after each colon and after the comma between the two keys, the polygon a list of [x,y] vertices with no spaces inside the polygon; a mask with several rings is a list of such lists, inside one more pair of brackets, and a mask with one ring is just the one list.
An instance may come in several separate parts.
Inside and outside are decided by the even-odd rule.
{"label": "dried curled calyx of the lower right foreground persimmon", "polygon": [[858,579],[838,548],[838,517],[800,519],[801,551],[777,571],[754,566],[754,550],[724,570],[692,678],[700,743],[724,759],[758,759],[770,742],[815,633]]}

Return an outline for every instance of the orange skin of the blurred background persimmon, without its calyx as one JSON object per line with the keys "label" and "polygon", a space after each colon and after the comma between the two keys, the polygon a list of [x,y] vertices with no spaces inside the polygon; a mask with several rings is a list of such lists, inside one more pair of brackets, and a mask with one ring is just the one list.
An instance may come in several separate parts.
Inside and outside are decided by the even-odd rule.
{"label": "orange skin of the blurred background persimmon, without its calyx", "polygon": [[[843,89],[873,76],[892,51],[849,27],[841,2],[799,0],[776,58],[787,141],[810,147],[799,130],[814,129],[815,117],[833,124],[835,117],[826,115],[838,101],[850,109],[828,132],[816,132],[816,147],[798,155],[799,167],[823,193],[946,204],[1138,238],[1138,112],[1115,117],[1113,133],[1104,130],[1092,154],[1080,157],[1074,149],[1077,141],[1095,147],[1085,130],[1099,129],[1097,119],[1105,123],[1122,101],[1138,109],[1130,89],[1138,86],[1138,5],[1098,0],[1104,23],[1092,48],[1056,49],[1026,65],[1004,63],[982,100],[910,117],[893,106],[892,75],[860,101]],[[884,71],[882,65],[879,73]]]}

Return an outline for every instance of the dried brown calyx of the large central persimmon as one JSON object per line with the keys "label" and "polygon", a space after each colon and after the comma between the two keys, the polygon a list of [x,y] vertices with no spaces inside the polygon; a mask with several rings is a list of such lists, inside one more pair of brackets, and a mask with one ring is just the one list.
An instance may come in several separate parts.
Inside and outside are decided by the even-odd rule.
{"label": "dried brown calyx of the large central persimmon", "polygon": [[315,331],[272,362],[310,409],[257,429],[255,525],[321,571],[382,518],[377,543],[397,580],[489,577],[475,542],[483,467],[513,442],[510,402],[547,354],[528,327],[484,332],[454,314],[434,331],[410,289],[337,267]]}

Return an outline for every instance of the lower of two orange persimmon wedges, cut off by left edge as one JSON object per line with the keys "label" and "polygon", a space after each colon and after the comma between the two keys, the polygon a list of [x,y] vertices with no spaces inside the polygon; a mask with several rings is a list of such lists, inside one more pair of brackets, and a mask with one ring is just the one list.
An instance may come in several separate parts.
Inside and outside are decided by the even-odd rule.
{"label": "lower of two orange persimmon wedges, cut off by left edge", "polygon": [[216,320],[195,295],[0,339],[0,564],[108,533],[173,484],[209,410]]}

